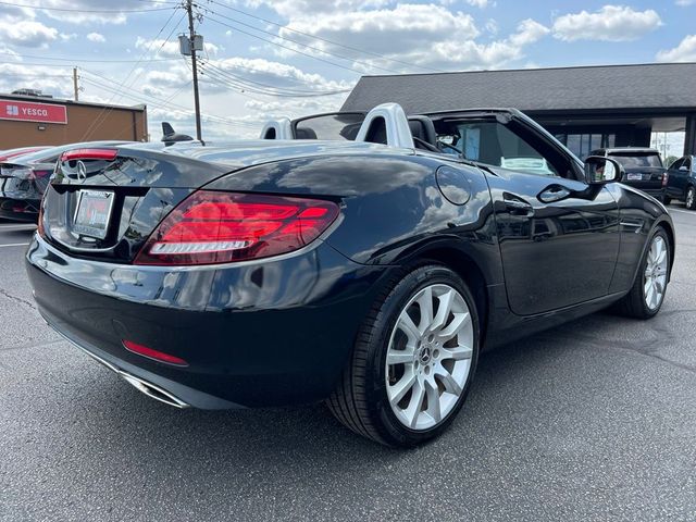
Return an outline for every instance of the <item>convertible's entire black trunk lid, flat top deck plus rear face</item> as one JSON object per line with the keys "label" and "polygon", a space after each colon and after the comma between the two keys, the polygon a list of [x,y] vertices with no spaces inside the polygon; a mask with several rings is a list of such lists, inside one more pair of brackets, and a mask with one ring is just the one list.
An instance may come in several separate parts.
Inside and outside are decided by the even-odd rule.
{"label": "convertible's entire black trunk lid, flat top deck plus rear face", "polygon": [[172,210],[217,177],[290,158],[366,149],[394,151],[375,144],[316,140],[67,151],[46,190],[40,225],[49,243],[73,256],[130,263]]}

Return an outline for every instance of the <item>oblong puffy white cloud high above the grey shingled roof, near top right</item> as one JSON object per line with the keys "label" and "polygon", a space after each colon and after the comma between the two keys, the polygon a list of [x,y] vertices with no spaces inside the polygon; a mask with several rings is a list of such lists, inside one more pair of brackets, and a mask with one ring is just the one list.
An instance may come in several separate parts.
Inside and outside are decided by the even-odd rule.
{"label": "oblong puffy white cloud high above the grey shingled roof, near top right", "polygon": [[625,5],[605,5],[599,11],[564,14],[554,22],[554,36],[561,40],[631,41],[662,25],[651,9],[634,11]]}

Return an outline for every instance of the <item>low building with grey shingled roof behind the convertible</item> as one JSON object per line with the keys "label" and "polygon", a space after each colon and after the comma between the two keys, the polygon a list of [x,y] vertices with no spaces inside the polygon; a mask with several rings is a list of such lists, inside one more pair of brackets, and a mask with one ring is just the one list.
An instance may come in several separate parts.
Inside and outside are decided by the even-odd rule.
{"label": "low building with grey shingled roof behind the convertible", "polygon": [[696,153],[696,63],[363,76],[344,111],[393,101],[409,114],[517,108],[580,157],[599,147],[649,147],[685,130]]}

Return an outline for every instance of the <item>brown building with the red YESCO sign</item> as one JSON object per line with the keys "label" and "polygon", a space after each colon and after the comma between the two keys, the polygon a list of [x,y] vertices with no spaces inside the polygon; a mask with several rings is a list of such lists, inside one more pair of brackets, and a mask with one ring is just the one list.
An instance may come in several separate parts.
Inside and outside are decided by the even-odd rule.
{"label": "brown building with the red YESCO sign", "polygon": [[0,150],[86,140],[148,137],[147,108],[0,95]]}

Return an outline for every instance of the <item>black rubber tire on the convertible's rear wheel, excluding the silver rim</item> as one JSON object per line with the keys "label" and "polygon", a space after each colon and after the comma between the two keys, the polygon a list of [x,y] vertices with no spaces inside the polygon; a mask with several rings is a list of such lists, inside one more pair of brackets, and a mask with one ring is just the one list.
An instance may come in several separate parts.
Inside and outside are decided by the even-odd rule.
{"label": "black rubber tire on the convertible's rear wheel, excluding the silver rim", "polygon": [[[410,430],[397,419],[387,398],[385,363],[396,321],[409,300],[433,284],[446,284],[464,299],[473,324],[471,369],[458,402],[428,430]],[[406,273],[375,301],[358,333],[351,360],[326,403],[343,424],[359,435],[393,447],[413,447],[443,433],[461,409],[476,369],[480,323],[475,300],[467,284],[451,270],[427,264]]]}

